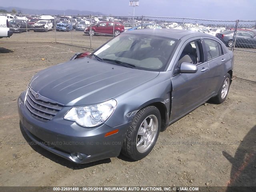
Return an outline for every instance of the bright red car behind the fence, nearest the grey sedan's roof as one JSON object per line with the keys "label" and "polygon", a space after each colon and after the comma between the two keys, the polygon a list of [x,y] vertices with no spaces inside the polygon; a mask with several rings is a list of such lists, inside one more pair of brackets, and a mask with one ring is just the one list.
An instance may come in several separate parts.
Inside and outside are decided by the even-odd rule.
{"label": "bright red car behind the fence, nearest the grey sedan's roof", "polygon": [[[113,24],[115,26],[113,26]],[[95,34],[113,34],[119,35],[120,33],[124,32],[124,26],[119,22],[112,22],[112,21],[104,21],[99,22],[96,25],[91,26],[92,30],[90,33],[90,27],[86,27],[84,30],[85,34],[89,34],[94,36]]]}

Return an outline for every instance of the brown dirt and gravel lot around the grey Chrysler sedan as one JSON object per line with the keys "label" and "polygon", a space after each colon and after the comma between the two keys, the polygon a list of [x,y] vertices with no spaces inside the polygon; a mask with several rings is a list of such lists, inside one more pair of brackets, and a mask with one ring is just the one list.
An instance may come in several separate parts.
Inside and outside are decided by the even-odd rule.
{"label": "brown dirt and gravel lot around the grey Chrysler sedan", "polygon": [[[254,82],[233,80],[223,104],[206,103],[172,124],[138,162],[119,156],[76,165],[26,142],[17,98],[33,74],[82,48],[1,41],[0,186],[256,186]],[[255,53],[235,54],[234,75],[255,81]]]}

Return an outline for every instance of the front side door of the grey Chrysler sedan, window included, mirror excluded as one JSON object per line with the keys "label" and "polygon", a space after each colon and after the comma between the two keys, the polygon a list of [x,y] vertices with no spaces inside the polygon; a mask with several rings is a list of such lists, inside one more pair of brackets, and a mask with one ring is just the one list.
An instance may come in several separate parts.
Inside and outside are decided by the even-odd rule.
{"label": "front side door of the grey Chrysler sedan, window included, mirror excluded", "polygon": [[[193,51],[188,53],[186,46],[191,44]],[[186,53],[184,53],[186,52]],[[196,56],[195,65],[198,71],[193,74],[180,73],[180,64],[182,55]],[[201,38],[191,38],[186,41],[178,54],[178,62],[176,63],[172,79],[172,106],[170,121],[181,118],[188,112],[192,111],[210,97],[208,88],[208,77],[210,69],[208,62],[203,54]],[[192,63],[192,62],[191,62]]]}

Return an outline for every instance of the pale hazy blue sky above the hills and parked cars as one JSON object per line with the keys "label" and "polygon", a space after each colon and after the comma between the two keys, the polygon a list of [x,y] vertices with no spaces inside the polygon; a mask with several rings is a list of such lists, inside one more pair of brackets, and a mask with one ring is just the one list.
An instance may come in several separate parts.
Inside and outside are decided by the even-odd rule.
{"label": "pale hazy blue sky above the hills and parked cars", "polygon": [[[30,9],[90,10],[118,16],[133,14],[129,0],[10,0],[1,6]],[[140,0],[135,16],[212,20],[256,20],[256,0]]]}

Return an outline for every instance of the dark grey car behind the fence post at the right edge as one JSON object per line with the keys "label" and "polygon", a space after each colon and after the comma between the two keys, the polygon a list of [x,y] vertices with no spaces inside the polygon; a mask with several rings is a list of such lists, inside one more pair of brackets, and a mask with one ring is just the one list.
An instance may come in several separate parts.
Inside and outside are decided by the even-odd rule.
{"label": "dark grey car behind the fence post at the right edge", "polygon": [[[222,40],[226,46],[233,47],[234,31],[217,33],[216,37]],[[256,48],[256,34],[251,30],[238,30],[236,32],[235,46],[241,48]]]}

